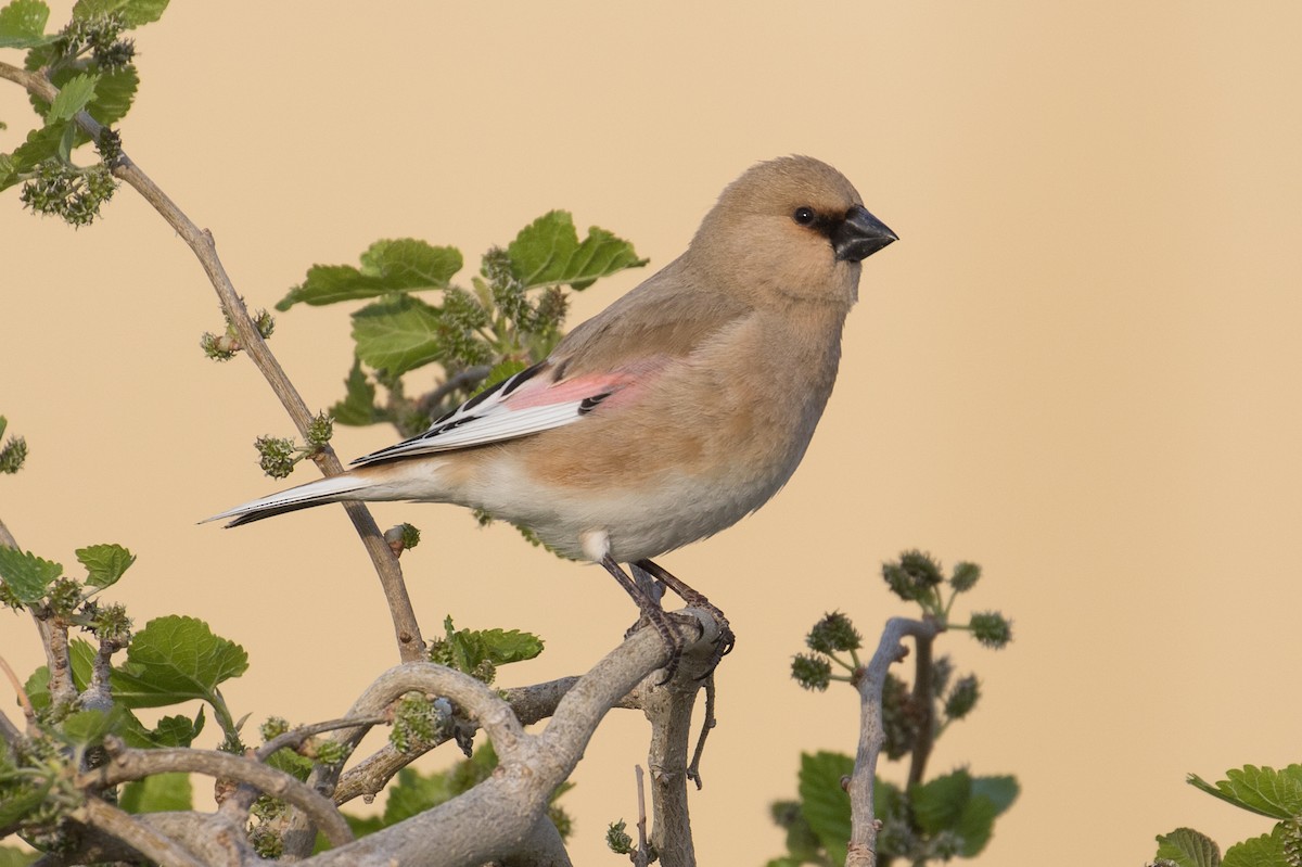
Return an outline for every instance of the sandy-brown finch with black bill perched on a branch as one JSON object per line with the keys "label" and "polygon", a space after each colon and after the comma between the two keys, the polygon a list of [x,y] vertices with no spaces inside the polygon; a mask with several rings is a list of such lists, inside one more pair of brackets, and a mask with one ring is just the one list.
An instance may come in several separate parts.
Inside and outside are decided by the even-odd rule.
{"label": "sandy-brown finch with black bill perched on a branch", "polygon": [[758,163],[682,255],[543,361],[346,473],[207,521],[344,500],[480,509],[604,566],[669,646],[668,680],[678,643],[650,582],[620,564],[715,613],[719,655],[732,648],[723,612],[654,558],[730,527],[792,476],[832,393],[861,262],[897,240],[827,163]]}

